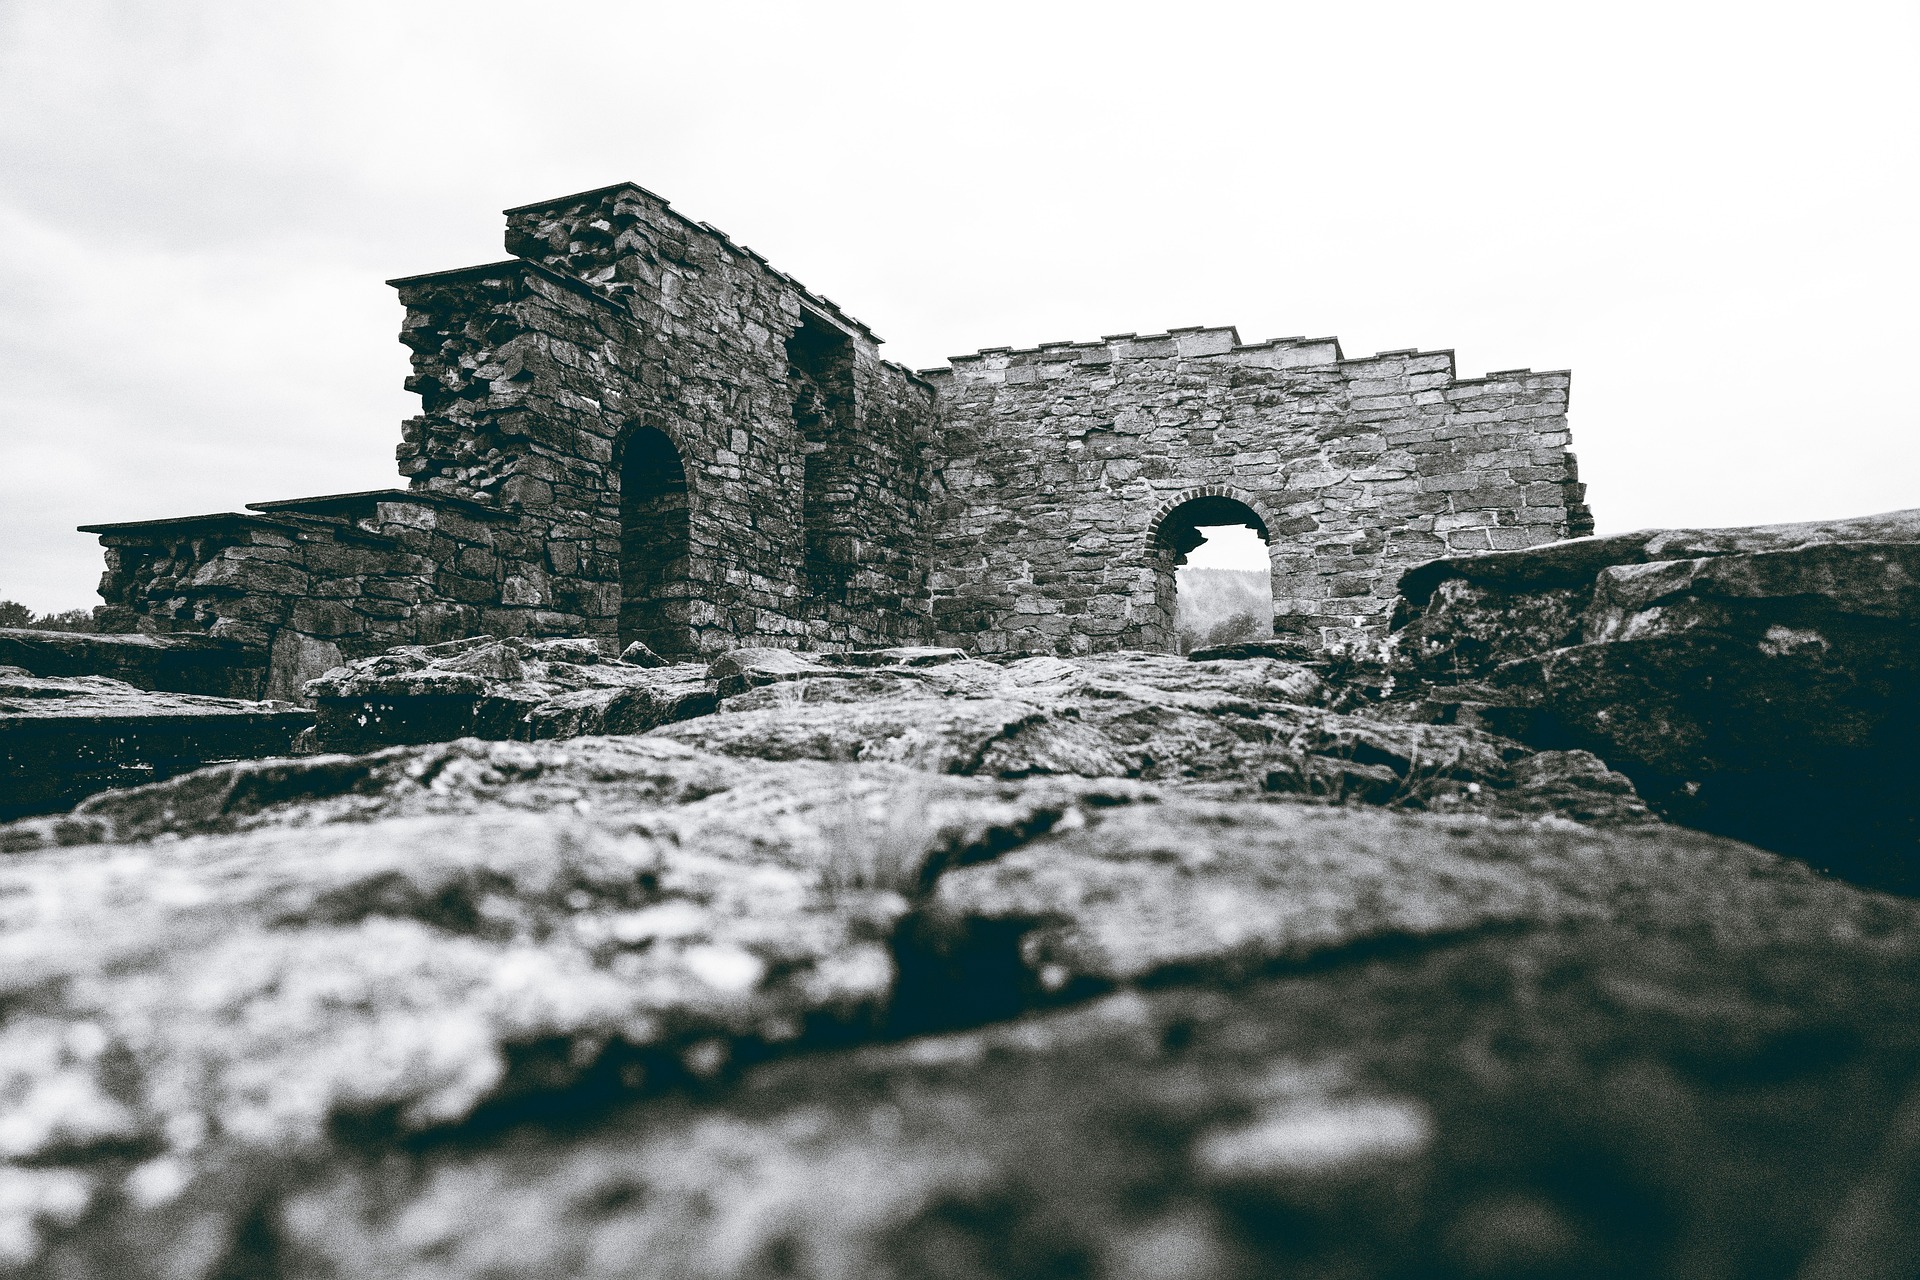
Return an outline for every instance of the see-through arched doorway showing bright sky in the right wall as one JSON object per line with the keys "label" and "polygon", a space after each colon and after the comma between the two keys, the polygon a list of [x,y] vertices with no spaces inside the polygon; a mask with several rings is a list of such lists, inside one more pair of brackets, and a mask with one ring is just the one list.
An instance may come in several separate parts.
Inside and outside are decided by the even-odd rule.
{"label": "see-through arched doorway showing bright sky in the right wall", "polygon": [[1160,645],[1188,652],[1273,635],[1267,516],[1250,495],[1183,493],[1148,528]]}

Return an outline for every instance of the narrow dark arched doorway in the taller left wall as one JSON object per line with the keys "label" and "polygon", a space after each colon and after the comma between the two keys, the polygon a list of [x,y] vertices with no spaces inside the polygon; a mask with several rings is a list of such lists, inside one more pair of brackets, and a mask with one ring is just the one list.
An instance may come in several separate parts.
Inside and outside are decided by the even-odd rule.
{"label": "narrow dark arched doorway in the taller left wall", "polygon": [[636,428],[620,451],[620,645],[693,656],[687,468],[666,432]]}

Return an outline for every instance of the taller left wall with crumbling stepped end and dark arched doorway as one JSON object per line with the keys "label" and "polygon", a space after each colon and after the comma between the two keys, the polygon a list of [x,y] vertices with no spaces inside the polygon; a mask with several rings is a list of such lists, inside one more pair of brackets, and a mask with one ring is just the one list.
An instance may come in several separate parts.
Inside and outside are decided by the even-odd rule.
{"label": "taller left wall with crumbling stepped end and dark arched doorway", "polygon": [[[643,628],[685,656],[925,635],[925,380],[881,361],[831,301],[634,186],[513,209],[507,244],[522,257],[392,282],[420,395],[396,451],[417,501],[86,526],[108,545],[104,622],[271,649],[278,697],[342,658],[482,631]],[[795,391],[810,338],[833,347],[826,430]],[[649,545],[622,510],[637,438],[664,438],[680,462],[670,576],[622,572]],[[660,599],[622,628],[634,581]]]}

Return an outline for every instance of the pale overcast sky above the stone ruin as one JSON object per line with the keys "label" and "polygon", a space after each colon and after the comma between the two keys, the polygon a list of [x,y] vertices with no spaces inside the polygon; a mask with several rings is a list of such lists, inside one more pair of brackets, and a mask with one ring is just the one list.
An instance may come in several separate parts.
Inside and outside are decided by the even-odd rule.
{"label": "pale overcast sky above the stone ruin", "polygon": [[0,0],[0,599],[399,484],[388,276],[630,178],[912,367],[1572,368],[1601,532],[1920,507],[1914,4]]}

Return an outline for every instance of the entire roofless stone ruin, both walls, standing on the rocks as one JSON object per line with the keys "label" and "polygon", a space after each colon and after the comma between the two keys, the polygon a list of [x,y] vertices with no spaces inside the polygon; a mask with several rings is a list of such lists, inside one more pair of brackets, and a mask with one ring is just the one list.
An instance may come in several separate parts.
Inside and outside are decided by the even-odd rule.
{"label": "entire roofless stone ruin, both walls, standing on the rocks", "polygon": [[1384,633],[1404,570],[1592,532],[1567,372],[1177,328],[945,368],[630,182],[507,211],[499,263],[392,280],[403,489],[92,524],[102,629],[217,643],[298,699],[470,635],[1169,649],[1210,526],[1269,547],[1275,631]]}

